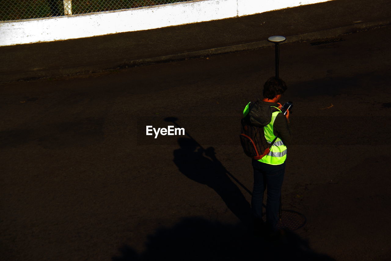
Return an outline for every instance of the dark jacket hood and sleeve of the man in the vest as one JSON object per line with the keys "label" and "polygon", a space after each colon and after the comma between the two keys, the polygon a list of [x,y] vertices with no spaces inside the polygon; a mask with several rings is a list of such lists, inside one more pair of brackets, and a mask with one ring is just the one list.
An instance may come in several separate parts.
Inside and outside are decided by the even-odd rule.
{"label": "dark jacket hood and sleeve of the man in the vest", "polygon": [[[251,102],[253,103],[253,102]],[[279,105],[274,102],[261,101],[260,99],[256,100],[253,105],[249,107],[249,120],[252,125],[257,127],[264,127],[271,121],[271,114],[275,111],[278,111],[276,108],[270,107]],[[285,146],[291,145],[292,133],[291,125],[287,121],[287,118],[284,114],[278,113],[276,120],[273,124],[273,134],[278,136],[285,144]]]}

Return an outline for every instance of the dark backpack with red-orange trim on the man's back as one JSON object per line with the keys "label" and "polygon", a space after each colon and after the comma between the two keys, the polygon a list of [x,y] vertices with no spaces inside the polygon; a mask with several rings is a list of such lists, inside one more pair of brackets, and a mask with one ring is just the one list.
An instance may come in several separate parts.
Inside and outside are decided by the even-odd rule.
{"label": "dark backpack with red-orange trim on the man's back", "polygon": [[265,138],[264,127],[256,127],[251,125],[249,113],[246,117],[240,120],[241,133],[240,143],[244,153],[253,159],[262,159],[267,153],[269,153],[271,146],[273,146],[274,141],[277,137],[274,138],[272,143],[267,143]]}

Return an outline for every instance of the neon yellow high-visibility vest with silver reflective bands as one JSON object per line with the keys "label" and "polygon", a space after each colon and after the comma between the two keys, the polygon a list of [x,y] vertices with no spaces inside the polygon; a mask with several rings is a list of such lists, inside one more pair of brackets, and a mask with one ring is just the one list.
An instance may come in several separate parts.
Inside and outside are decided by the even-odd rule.
{"label": "neon yellow high-visibility vest with silver reflective bands", "polygon": [[[249,112],[249,104],[250,103],[248,103],[246,108],[244,108],[243,117],[245,117]],[[268,143],[271,143],[274,138],[276,138],[273,133],[273,124],[274,120],[276,120],[277,114],[282,113],[277,107],[270,107],[274,107],[278,111],[275,111],[271,114],[270,123],[264,127],[265,138]],[[274,141],[273,146],[271,146],[270,152],[266,154],[262,159],[258,159],[258,161],[270,165],[280,165],[285,162],[285,159],[287,159],[287,147],[284,145],[280,138],[277,138],[276,141]]]}

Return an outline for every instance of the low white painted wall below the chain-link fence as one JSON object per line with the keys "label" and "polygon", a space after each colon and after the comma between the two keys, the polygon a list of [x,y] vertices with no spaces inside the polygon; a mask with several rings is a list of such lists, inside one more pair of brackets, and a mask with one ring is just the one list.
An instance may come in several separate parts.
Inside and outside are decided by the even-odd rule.
{"label": "low white painted wall below the chain-link fence", "polygon": [[0,22],[0,46],[155,29],[330,0],[196,0],[120,11]]}

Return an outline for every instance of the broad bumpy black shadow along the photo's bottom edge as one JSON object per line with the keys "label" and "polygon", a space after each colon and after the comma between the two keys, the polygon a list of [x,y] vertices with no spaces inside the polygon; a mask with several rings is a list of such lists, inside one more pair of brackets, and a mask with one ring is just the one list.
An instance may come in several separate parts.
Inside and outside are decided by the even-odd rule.
{"label": "broad bumpy black shadow along the photo's bottom edge", "polygon": [[187,217],[172,228],[158,229],[145,246],[141,254],[128,245],[122,246],[112,260],[334,260],[311,250],[308,242],[293,232],[266,240],[240,225],[200,217]]}

